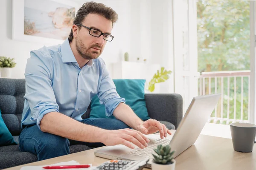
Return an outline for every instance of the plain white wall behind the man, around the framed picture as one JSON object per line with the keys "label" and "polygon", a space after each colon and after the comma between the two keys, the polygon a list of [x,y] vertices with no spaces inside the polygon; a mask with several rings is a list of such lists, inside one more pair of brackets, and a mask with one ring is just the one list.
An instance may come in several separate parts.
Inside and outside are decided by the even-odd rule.
{"label": "plain white wall behind the man, around the framed picture", "polygon": [[[172,1],[170,0],[95,0],[113,8],[119,20],[113,27],[114,40],[108,42],[101,57],[111,71],[111,63],[124,60],[147,59],[173,70]],[[76,0],[83,4],[84,0]],[[17,66],[12,77],[24,78],[29,52],[43,43],[12,40],[12,0],[0,0],[0,56],[14,57]],[[173,77],[162,83],[161,92],[173,92]]]}

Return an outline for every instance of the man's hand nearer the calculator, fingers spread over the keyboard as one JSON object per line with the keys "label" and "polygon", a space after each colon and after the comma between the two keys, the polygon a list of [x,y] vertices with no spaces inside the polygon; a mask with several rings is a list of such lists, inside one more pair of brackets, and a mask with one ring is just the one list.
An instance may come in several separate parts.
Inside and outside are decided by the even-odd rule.
{"label": "man's hand nearer the calculator, fingers spread over the keyboard", "polygon": [[[119,130],[106,130],[102,134],[102,143],[108,146],[116,144],[123,144],[131,149],[134,149],[134,145],[137,145],[141,149],[148,146],[149,139],[147,139],[142,133],[132,129],[119,129]],[[132,144],[133,143],[133,144]]]}

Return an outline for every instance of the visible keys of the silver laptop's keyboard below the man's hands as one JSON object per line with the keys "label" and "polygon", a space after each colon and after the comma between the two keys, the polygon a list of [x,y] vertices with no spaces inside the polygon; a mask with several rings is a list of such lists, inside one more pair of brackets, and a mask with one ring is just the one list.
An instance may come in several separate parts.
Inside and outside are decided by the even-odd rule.
{"label": "visible keys of the silver laptop's keyboard below the man's hands", "polygon": [[164,139],[157,139],[154,142],[150,143],[148,147],[145,147],[144,149],[141,149],[138,147],[137,149],[132,150],[129,155],[135,155],[135,156],[142,156],[146,158],[153,158],[152,153],[154,153],[155,148],[157,148],[158,144],[166,145],[169,144],[172,138],[164,138]]}

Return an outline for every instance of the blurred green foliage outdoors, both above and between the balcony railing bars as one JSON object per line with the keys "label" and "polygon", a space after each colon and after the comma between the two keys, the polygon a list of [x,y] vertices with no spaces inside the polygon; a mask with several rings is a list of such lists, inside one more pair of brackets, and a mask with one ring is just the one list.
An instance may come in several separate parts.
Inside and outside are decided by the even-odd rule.
{"label": "blurred green foliage outdoors, both above and between the balcony railing bars", "polygon": [[[250,70],[249,1],[198,0],[197,19],[199,72]],[[230,78],[228,95],[228,81],[224,78],[224,118],[227,118],[229,110],[230,119],[234,118],[234,113],[236,113],[236,119],[241,119],[241,112],[242,119],[248,119],[249,80],[248,77],[244,77],[243,89],[241,89],[241,80],[241,77],[237,77],[235,86],[234,78]],[[208,79],[205,79],[205,87],[209,87]],[[211,81],[211,87],[214,93],[214,78]],[[217,93],[221,93],[221,78],[217,79]],[[221,108],[221,105],[218,107]],[[217,110],[217,114],[220,114],[220,109]],[[212,116],[215,116],[214,111]]]}

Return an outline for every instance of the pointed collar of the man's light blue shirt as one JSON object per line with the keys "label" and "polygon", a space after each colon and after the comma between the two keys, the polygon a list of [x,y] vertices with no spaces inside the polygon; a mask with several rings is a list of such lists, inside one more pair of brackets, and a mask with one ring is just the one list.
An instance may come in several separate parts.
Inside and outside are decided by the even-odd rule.
{"label": "pointed collar of the man's light blue shirt", "polygon": [[[68,38],[61,44],[61,56],[62,56],[62,62],[77,62],[71,50]],[[93,59],[90,59],[86,65],[88,67],[91,67],[92,65],[94,65]]]}

